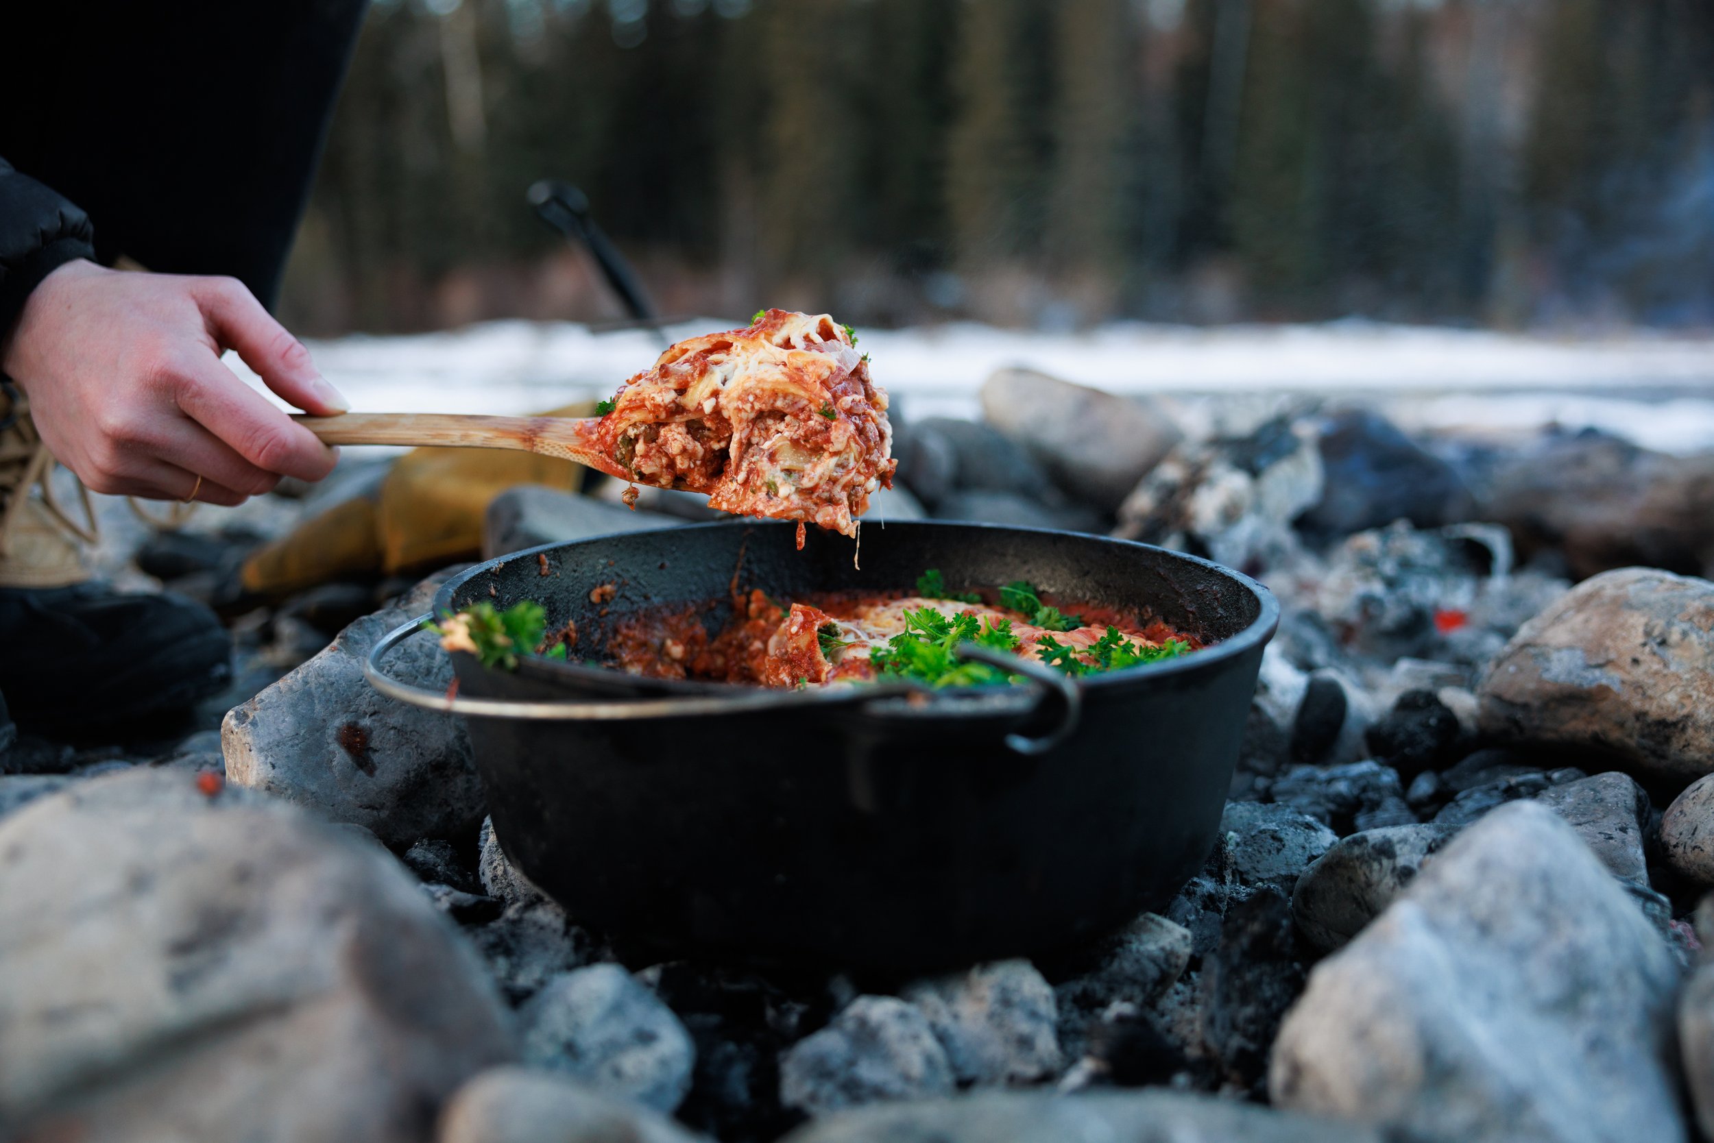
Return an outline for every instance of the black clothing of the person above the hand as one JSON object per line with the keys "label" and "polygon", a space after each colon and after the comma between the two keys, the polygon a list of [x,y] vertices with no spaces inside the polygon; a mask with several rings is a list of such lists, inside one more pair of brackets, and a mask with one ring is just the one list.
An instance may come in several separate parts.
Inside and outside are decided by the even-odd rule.
{"label": "black clothing of the person above the hand", "polygon": [[79,257],[271,305],[365,2],[0,5],[0,338]]}

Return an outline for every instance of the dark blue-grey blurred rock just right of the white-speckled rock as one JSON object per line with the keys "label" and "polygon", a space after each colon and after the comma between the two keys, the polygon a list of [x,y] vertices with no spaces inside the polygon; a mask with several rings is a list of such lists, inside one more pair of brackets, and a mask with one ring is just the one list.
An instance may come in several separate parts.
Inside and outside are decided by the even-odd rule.
{"label": "dark blue-grey blurred rock just right of the white-speckled rock", "polygon": [[1440,528],[1469,519],[1474,507],[1459,473],[1371,410],[1342,410],[1318,434],[1320,502],[1297,526],[1323,536],[1349,536],[1407,519]]}

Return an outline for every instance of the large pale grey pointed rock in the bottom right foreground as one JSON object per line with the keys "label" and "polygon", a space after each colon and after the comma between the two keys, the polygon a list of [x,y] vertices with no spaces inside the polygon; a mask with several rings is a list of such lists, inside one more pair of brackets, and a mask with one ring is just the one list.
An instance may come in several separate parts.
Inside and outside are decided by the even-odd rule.
{"label": "large pale grey pointed rock in the bottom right foreground", "polygon": [[1575,831],[1505,805],[1315,968],[1268,1090],[1411,1138],[1683,1140],[1676,984],[1666,943]]}

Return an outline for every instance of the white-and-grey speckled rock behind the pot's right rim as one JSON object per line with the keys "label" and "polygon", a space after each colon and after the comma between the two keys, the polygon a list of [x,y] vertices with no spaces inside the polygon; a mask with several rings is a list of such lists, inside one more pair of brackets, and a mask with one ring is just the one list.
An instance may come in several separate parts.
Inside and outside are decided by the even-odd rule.
{"label": "white-and-grey speckled rock behind the pot's right rim", "polygon": [[1119,506],[1112,535],[1260,571],[1301,552],[1291,521],[1320,495],[1313,428],[1279,418],[1238,440],[1176,447]]}

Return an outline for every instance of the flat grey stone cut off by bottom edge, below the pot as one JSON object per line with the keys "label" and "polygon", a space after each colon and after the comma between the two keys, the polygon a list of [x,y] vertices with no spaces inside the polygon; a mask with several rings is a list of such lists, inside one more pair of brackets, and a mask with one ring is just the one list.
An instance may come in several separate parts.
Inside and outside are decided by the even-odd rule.
{"label": "flat grey stone cut off by bottom edge, below the pot", "polygon": [[982,1092],[866,1107],[782,1143],[1380,1143],[1375,1131],[1178,1092]]}

